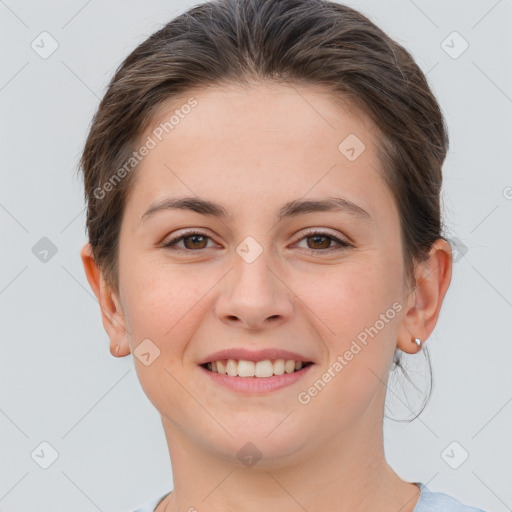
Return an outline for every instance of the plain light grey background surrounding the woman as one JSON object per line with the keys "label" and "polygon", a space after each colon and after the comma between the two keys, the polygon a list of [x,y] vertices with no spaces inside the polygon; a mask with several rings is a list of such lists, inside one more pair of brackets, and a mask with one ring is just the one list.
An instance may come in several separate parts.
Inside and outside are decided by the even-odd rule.
{"label": "plain light grey background surrounding the woman", "polygon": [[[132,510],[171,489],[160,417],[132,356],[110,355],[85,278],[75,171],[115,68],[193,4],[0,0],[2,511]],[[512,2],[347,4],[428,72],[451,137],[445,219],[467,247],[428,341],[431,401],[412,423],[385,422],[387,457],[404,479],[488,511],[511,510]],[[31,48],[43,31],[59,45],[47,59]],[[458,58],[442,47],[453,31],[469,43]],[[445,44],[461,48],[460,40]],[[46,263],[32,252],[42,237],[58,249]],[[403,404],[395,391],[394,418]],[[48,469],[31,457],[43,441],[59,454]],[[442,457],[453,441],[460,447],[449,451],[452,460],[469,453],[458,469]]]}

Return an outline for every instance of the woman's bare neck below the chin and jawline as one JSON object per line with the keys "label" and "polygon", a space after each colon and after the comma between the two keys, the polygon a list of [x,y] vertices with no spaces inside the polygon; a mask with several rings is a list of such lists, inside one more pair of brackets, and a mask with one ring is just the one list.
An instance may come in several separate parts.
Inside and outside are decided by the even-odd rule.
{"label": "woman's bare neck below the chin and jawline", "polygon": [[286,461],[267,459],[252,467],[205,450],[164,418],[162,424],[174,490],[158,512],[412,512],[418,501],[418,487],[401,480],[385,460],[379,421],[302,447]]}

